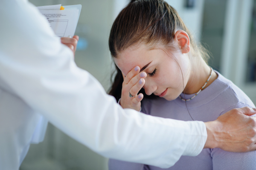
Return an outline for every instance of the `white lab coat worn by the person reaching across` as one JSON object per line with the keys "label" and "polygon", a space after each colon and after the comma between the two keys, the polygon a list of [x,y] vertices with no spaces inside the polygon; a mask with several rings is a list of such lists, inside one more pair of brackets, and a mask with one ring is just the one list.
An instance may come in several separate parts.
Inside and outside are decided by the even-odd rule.
{"label": "white lab coat worn by the person reaching across", "polygon": [[46,120],[102,156],[163,168],[204,147],[203,122],[122,109],[26,0],[1,0],[0,32],[0,170],[18,170]]}

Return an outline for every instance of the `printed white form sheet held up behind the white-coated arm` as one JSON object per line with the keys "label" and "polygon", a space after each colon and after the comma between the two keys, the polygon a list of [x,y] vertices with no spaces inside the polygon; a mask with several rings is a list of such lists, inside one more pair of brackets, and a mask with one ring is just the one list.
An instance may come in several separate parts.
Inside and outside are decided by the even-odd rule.
{"label": "printed white form sheet held up behind the white-coated arm", "polygon": [[78,9],[40,10],[49,21],[52,30],[58,37],[73,37],[79,17]]}

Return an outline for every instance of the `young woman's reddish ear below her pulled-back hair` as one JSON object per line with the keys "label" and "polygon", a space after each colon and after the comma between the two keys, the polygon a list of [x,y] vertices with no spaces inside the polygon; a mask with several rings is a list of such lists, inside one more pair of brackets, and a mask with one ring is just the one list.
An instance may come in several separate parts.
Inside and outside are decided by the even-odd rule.
{"label": "young woman's reddish ear below her pulled-back hair", "polygon": [[175,40],[178,42],[183,54],[190,51],[190,39],[189,35],[185,31],[178,30],[175,33]]}

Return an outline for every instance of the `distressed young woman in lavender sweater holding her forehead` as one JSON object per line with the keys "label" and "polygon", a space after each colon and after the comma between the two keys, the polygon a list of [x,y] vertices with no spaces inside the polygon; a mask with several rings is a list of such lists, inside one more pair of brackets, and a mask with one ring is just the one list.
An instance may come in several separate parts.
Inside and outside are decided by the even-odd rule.
{"label": "distressed young woman in lavender sweater holding her forehead", "polygon": [[[123,108],[207,122],[234,108],[255,107],[241,89],[207,65],[204,48],[163,0],[132,0],[113,23],[109,48],[117,69],[110,94]],[[256,170],[255,160],[255,151],[203,149],[195,157],[181,156],[168,170]],[[109,170],[160,168],[110,159]]]}

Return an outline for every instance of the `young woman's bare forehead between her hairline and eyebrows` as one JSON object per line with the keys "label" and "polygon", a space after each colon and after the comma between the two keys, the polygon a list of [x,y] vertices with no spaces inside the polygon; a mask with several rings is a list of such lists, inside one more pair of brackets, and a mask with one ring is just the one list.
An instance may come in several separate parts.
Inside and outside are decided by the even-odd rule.
{"label": "young woman's bare forehead between her hairline and eyebrows", "polygon": [[114,61],[122,73],[126,76],[135,66],[140,68],[154,59],[154,50],[148,50],[145,45],[140,45],[137,48],[128,47],[123,52],[119,53]]}

